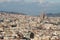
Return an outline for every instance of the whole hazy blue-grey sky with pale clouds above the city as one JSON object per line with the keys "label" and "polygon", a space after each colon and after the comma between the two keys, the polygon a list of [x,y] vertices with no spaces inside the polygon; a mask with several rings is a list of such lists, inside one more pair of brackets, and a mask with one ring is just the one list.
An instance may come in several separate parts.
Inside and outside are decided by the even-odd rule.
{"label": "whole hazy blue-grey sky with pale clouds above the city", "polygon": [[[21,7],[21,5],[24,7]],[[41,11],[60,12],[60,0],[0,0],[1,10],[20,11],[27,14],[39,13]]]}

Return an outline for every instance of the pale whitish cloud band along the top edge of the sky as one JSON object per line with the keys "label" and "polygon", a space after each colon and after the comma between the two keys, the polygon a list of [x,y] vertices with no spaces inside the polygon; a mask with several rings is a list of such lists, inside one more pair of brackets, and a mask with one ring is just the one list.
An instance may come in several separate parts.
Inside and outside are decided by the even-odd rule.
{"label": "pale whitish cloud band along the top edge of the sky", "polygon": [[0,0],[0,2],[26,2],[26,3],[31,3],[31,2],[48,2],[48,3],[58,3],[60,0]]}

